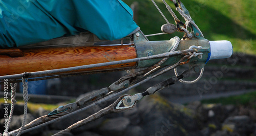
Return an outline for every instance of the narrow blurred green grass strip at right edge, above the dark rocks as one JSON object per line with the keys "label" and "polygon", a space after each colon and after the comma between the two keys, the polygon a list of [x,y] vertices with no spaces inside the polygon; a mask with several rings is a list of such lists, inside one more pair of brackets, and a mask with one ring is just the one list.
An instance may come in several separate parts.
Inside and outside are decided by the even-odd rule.
{"label": "narrow blurred green grass strip at right edge, above the dark rocks", "polygon": [[202,103],[222,103],[224,105],[235,104],[235,105],[244,105],[244,106],[250,106],[252,108],[256,108],[256,91],[242,94],[242,95],[237,95],[237,96],[202,100],[201,102]]}

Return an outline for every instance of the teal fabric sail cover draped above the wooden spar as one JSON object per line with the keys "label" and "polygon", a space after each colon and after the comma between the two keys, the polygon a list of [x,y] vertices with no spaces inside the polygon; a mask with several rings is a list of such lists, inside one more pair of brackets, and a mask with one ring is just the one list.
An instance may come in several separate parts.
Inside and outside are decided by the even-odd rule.
{"label": "teal fabric sail cover draped above the wooden spar", "polygon": [[91,32],[115,40],[139,29],[120,0],[1,0],[0,48]]}

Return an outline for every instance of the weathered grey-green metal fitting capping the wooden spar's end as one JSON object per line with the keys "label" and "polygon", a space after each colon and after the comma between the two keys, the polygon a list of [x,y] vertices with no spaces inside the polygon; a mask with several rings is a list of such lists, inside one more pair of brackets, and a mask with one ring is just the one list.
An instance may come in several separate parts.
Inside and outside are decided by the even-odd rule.
{"label": "weathered grey-green metal fitting capping the wooden spar's end", "polygon": [[[137,34],[137,36],[136,36]],[[147,57],[148,55],[158,55],[160,53],[169,52],[176,43],[176,38],[172,38],[169,41],[148,41],[141,32],[134,34],[134,43],[137,49],[137,57]],[[198,49],[197,52],[202,52],[202,58],[193,57],[189,61],[189,68],[194,66],[199,66],[203,68],[207,58],[208,53],[210,52],[209,41],[203,37],[191,38],[186,40],[181,40],[179,46],[176,50],[185,50],[190,46],[201,46],[201,49]],[[173,65],[177,63],[183,56],[170,57],[162,66]],[[137,63],[137,68],[150,67],[158,63],[161,59],[152,59],[140,61]],[[185,60],[186,61],[186,60]]]}

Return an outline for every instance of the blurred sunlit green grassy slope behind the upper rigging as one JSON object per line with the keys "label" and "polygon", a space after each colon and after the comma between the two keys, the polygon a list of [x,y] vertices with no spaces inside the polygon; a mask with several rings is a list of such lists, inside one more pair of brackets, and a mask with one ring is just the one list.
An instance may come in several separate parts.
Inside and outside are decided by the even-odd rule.
{"label": "blurred sunlit green grassy slope behind the upper rigging", "polygon": [[[131,5],[132,1],[124,1]],[[161,26],[165,20],[150,0],[140,0],[138,19],[136,22],[144,34],[161,33]],[[170,23],[175,23],[161,0],[155,0]],[[179,19],[184,20],[175,10],[171,1],[166,1]],[[182,1],[189,10],[191,17],[199,26],[208,40],[229,40],[234,51],[256,54],[256,3],[248,1]],[[182,37],[182,33],[150,37],[150,40],[168,40],[174,36]]]}

